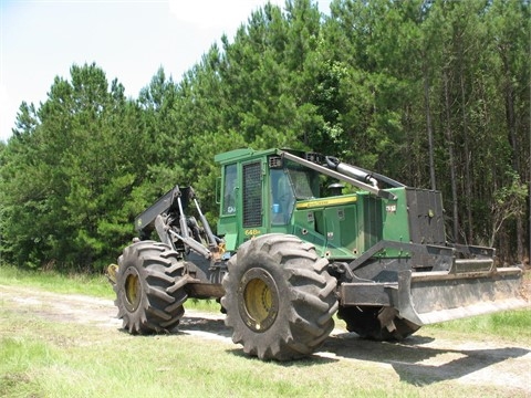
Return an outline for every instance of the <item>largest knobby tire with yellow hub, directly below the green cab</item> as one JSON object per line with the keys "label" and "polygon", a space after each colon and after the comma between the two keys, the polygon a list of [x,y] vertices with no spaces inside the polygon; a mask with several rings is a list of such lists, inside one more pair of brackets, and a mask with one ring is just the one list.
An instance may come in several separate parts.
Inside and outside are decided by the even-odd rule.
{"label": "largest knobby tire with yellow hub, directly below the green cab", "polygon": [[334,328],[336,280],[313,244],[266,234],[243,243],[223,279],[226,325],[243,352],[290,360],[312,354]]}

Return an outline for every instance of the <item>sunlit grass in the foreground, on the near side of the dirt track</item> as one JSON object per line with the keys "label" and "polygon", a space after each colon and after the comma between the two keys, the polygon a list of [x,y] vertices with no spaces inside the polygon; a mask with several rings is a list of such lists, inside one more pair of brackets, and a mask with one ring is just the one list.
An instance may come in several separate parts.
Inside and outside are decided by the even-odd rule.
{"label": "sunlit grass in the foreground, on the near side of the dirt track", "polygon": [[[512,397],[415,374],[416,364],[243,356],[225,342],[27,318],[0,307],[2,397]],[[81,332],[80,332],[80,327]],[[406,360],[406,362],[404,362]]]}

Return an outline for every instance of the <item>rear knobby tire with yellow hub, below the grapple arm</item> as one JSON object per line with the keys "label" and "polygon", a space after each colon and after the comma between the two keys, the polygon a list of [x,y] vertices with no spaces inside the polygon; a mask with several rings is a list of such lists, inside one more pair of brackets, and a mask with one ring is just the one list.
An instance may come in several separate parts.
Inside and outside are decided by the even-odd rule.
{"label": "rear knobby tire with yellow hub, below the grapple arm", "polygon": [[184,264],[167,244],[140,241],[118,258],[115,305],[131,334],[167,333],[183,317],[188,297]]}

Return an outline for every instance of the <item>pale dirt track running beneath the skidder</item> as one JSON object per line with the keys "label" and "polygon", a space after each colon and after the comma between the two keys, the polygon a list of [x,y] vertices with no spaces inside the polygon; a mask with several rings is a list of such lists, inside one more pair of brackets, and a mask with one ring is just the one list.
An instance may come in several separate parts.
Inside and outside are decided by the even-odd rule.
{"label": "pale dirt track running beneath the skidder", "polygon": [[[118,329],[112,301],[83,295],[55,294],[0,285],[0,305],[55,322],[91,324]],[[187,311],[179,332],[230,344],[230,329],[223,315]],[[429,385],[442,380],[492,385],[531,397],[531,342],[508,344],[490,341],[456,342],[423,334],[405,343],[388,344],[360,339],[353,333],[335,329],[316,357],[393,369],[409,384]]]}

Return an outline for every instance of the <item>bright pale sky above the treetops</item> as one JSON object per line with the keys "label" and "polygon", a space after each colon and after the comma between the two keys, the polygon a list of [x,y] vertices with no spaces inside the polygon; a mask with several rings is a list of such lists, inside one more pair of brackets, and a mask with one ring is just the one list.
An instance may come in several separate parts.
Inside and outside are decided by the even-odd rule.
{"label": "bright pale sky above the treetops", "polygon": [[[283,8],[284,0],[270,0]],[[330,0],[319,0],[327,13]],[[45,102],[55,76],[93,62],[137,98],[162,66],[179,82],[267,0],[0,0],[0,140],[22,102]]]}

